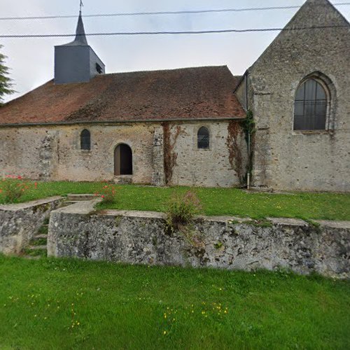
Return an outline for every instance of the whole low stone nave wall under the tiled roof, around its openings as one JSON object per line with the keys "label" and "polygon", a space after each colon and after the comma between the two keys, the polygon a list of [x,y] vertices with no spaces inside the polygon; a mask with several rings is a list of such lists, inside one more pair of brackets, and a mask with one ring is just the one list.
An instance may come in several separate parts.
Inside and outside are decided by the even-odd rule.
{"label": "whole low stone nave wall under the tiled roof, around its openings", "polygon": [[[208,127],[209,150],[197,149],[197,131]],[[230,164],[228,122],[169,125],[173,146],[173,176],[169,184],[235,186],[239,183]],[[179,135],[176,130],[179,127]],[[91,134],[91,150],[80,149],[80,132]],[[99,125],[45,125],[0,127],[0,174],[50,181],[112,181],[114,150],[118,144],[132,148],[133,183],[165,185],[164,123]],[[237,136],[243,157],[246,145]],[[244,167],[244,164],[242,165]]]}

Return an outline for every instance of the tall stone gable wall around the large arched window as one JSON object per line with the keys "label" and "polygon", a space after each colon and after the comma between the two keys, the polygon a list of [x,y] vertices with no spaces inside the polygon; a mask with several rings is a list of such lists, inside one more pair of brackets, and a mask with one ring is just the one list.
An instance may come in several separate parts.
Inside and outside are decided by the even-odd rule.
{"label": "tall stone gable wall around the large arched window", "polygon": [[[329,4],[313,2],[287,28],[346,25]],[[283,31],[249,69],[249,107],[258,129],[254,186],[350,191],[349,57],[349,27]],[[295,92],[314,72],[331,82],[329,130],[293,131]]]}

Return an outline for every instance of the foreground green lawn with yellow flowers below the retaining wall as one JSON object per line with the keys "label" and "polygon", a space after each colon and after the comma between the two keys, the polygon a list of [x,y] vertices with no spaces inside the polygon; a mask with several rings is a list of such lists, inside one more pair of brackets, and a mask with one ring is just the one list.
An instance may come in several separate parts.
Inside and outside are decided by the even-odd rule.
{"label": "foreground green lawn with yellow flowers below the retaining wall", "polygon": [[0,255],[0,349],[349,349],[350,282]]}

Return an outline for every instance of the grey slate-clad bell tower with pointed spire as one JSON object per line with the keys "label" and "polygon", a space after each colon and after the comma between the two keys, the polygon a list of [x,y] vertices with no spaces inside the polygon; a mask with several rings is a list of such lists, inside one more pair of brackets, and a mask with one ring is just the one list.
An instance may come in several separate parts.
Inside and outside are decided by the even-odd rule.
{"label": "grey slate-clad bell tower with pointed spire", "polygon": [[71,43],[55,46],[55,84],[87,83],[105,73],[104,63],[87,43],[81,6],[80,1],[76,38]]}

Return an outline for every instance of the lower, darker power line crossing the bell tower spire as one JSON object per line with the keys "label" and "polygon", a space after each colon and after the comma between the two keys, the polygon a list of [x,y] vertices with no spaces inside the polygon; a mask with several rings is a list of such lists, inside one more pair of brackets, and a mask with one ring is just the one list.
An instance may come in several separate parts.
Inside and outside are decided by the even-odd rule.
{"label": "lower, darker power line crossing the bell tower spire", "polygon": [[246,33],[258,31],[298,31],[310,29],[330,29],[347,28],[349,25],[325,25],[315,27],[295,27],[295,28],[251,28],[251,29],[217,29],[217,30],[198,30],[198,31],[130,31],[114,33],[90,33],[90,34],[8,34],[0,35],[0,38],[65,38],[76,35],[85,36],[121,36],[121,35],[179,35],[179,34],[222,34],[222,33]]}

